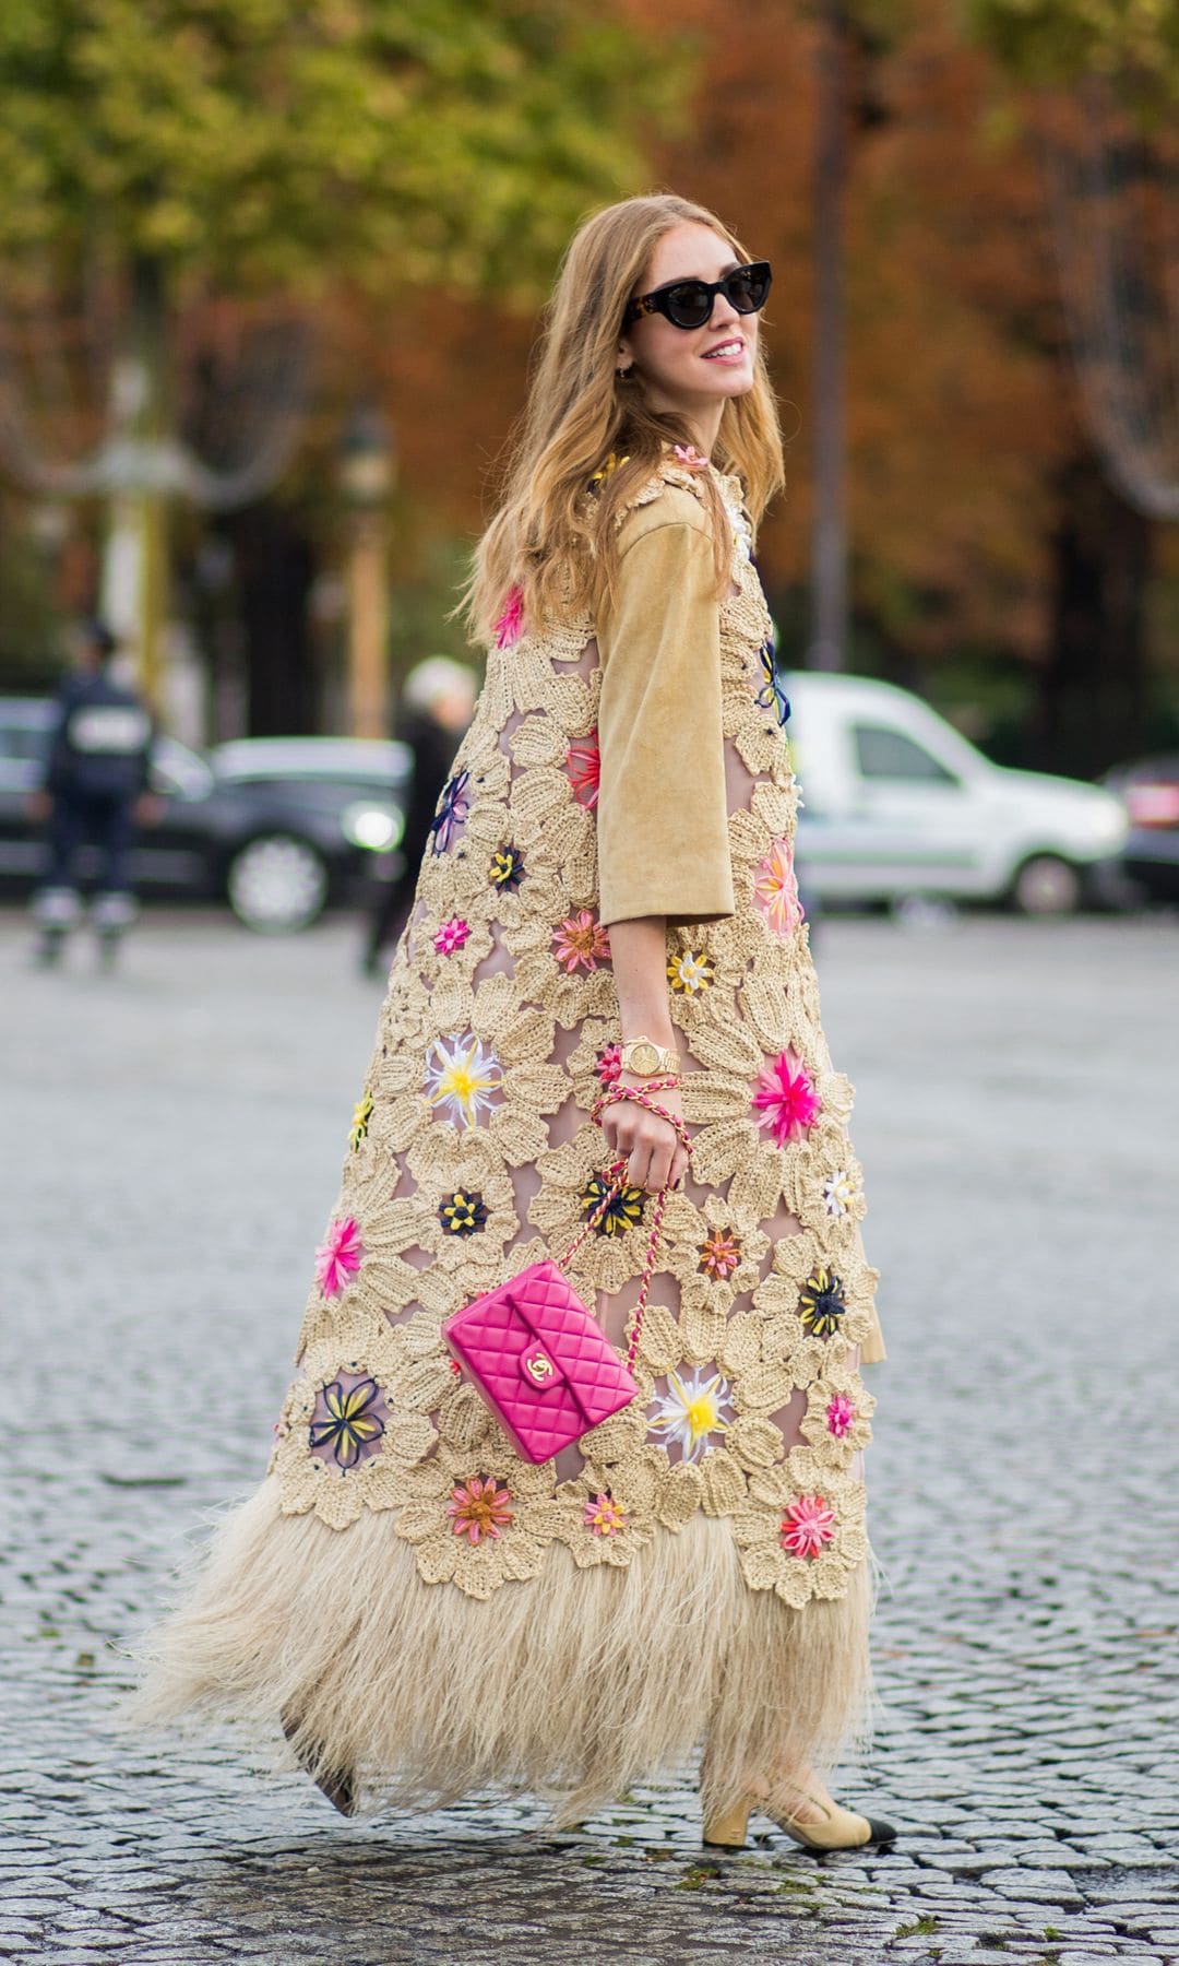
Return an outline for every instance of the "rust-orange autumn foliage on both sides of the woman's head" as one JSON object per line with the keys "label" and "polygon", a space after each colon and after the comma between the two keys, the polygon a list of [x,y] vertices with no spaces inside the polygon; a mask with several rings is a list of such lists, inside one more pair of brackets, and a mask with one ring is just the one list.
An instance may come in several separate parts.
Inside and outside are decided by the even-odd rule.
{"label": "rust-orange autumn foliage on both sides of the woman's head", "polygon": [[[654,181],[713,204],[774,261],[768,342],[790,444],[762,533],[770,594],[810,560],[814,24],[782,0],[625,0],[702,49]],[[847,425],[853,594],[900,651],[1030,655],[1045,637],[1051,480],[1077,448],[1038,161],[992,134],[1002,100],[953,0],[906,0],[894,45],[853,69]],[[340,322],[375,366],[422,521],[476,533],[519,411],[533,322],[487,305]],[[364,346],[362,346],[364,344]],[[798,655],[798,651],[790,651]]]}

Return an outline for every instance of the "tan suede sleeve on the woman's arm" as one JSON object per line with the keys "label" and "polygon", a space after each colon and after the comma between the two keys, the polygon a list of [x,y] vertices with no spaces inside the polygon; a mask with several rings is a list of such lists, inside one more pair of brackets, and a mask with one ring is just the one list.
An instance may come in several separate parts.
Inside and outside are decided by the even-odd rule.
{"label": "tan suede sleeve on the woman's arm", "polygon": [[733,914],[721,725],[721,627],[703,513],[660,497],[623,527],[597,623],[599,918]]}

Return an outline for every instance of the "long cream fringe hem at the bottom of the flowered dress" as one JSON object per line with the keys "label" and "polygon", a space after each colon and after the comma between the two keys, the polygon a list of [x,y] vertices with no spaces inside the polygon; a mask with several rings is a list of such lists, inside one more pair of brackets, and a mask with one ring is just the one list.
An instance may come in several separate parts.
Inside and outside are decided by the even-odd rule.
{"label": "long cream fringe hem at the bottom of the flowered dress", "polygon": [[870,1571],[792,1610],[741,1575],[729,1524],[696,1516],[627,1569],[554,1543],[489,1602],[422,1583],[385,1514],[346,1532],[283,1516],[261,1484],[218,1528],[189,1598],[141,1646],[126,1718],[234,1714],[362,1807],[525,1789],[582,1821],[703,1740],[707,1813],[751,1781],[827,1775],[869,1712]]}

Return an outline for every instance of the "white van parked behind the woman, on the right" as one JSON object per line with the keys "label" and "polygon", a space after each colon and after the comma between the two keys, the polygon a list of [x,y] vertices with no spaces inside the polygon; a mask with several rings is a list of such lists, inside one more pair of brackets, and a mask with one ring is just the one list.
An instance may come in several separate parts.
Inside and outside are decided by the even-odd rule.
{"label": "white van parked behind the woman, on the right", "polygon": [[821,900],[929,895],[1069,914],[1102,893],[1128,832],[1112,792],[1004,771],[890,682],[792,670],[784,684],[798,865]]}

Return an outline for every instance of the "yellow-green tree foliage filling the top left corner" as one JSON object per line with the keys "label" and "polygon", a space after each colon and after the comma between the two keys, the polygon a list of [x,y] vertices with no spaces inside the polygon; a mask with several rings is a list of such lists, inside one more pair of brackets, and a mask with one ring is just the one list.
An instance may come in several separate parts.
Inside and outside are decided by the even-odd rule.
{"label": "yellow-green tree foliage filling the top left corner", "polygon": [[586,0],[4,0],[0,252],[523,301],[684,81]]}

